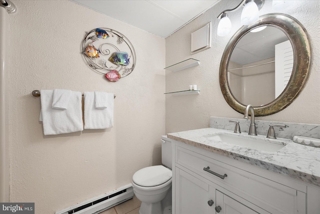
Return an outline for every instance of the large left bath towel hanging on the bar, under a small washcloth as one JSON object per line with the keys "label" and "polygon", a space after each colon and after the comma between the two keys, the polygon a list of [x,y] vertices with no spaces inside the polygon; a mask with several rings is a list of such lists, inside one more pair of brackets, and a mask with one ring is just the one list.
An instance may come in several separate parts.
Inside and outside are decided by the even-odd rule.
{"label": "large left bath towel hanging on the bar, under a small washcloth", "polygon": [[[41,90],[43,134],[63,134],[83,130],[81,92],[70,93],[68,108],[52,108],[53,90]],[[40,117],[41,117],[40,115]]]}

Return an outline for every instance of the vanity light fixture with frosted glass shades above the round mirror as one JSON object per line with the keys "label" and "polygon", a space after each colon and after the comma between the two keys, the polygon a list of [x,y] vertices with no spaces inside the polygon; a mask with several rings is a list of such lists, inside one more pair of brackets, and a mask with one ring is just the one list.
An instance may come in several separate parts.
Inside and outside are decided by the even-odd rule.
{"label": "vanity light fixture with frosted glass shades above the round mirror", "polygon": [[250,25],[259,19],[259,10],[262,8],[263,4],[264,0],[242,0],[235,8],[222,11],[217,17],[217,19],[220,19],[217,35],[224,37],[231,32],[231,22],[226,13],[236,11],[244,6],[241,14],[241,24]]}

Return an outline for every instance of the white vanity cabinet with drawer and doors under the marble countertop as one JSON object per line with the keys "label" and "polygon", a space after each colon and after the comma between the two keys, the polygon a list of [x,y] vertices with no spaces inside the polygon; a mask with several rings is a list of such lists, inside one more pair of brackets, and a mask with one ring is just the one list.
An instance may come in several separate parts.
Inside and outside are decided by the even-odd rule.
{"label": "white vanity cabinet with drawer and doors under the marble countertop", "polygon": [[320,213],[317,186],[175,140],[172,149],[172,213]]}

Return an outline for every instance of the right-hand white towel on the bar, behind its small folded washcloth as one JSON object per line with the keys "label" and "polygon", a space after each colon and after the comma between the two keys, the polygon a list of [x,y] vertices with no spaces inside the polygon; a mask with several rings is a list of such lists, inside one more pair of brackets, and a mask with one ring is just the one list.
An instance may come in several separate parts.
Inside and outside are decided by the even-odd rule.
{"label": "right-hand white towel on the bar, behind its small folded washcloth", "polygon": [[84,92],[84,129],[105,129],[113,127],[113,94],[107,93],[107,107],[97,109],[94,92]]}

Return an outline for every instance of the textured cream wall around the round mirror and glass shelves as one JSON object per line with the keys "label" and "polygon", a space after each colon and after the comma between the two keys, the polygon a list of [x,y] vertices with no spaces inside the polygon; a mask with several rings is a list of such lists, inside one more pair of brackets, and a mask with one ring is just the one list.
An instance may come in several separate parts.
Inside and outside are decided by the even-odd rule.
{"label": "textured cream wall around the round mirror and glass shelves", "polygon": [[[291,1],[290,1],[291,2]],[[293,2],[293,1],[292,1]],[[239,1],[221,1],[170,37],[165,39],[166,66],[187,58],[200,60],[200,65],[172,73],[166,71],[166,92],[187,89],[197,84],[200,95],[173,97],[166,95],[166,132],[176,132],[208,127],[209,116],[242,118],[224,100],[219,87],[219,66],[224,48],[231,36],[241,27],[241,10],[229,13],[232,31],[229,36],[218,37],[216,18],[223,10],[234,8]],[[306,4],[307,3],[307,4]],[[286,109],[276,114],[258,117],[258,120],[320,124],[320,1],[294,1],[282,13],[296,18],[307,30],[313,46],[313,65],[309,80],[298,96]],[[272,1],[267,0],[259,14],[274,13]],[[212,22],[211,48],[190,56],[191,33]],[[267,130],[265,130],[267,132]]]}

